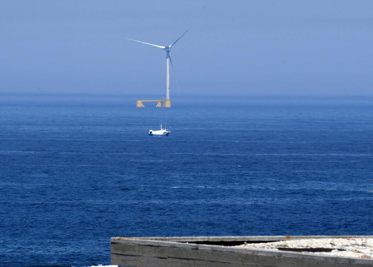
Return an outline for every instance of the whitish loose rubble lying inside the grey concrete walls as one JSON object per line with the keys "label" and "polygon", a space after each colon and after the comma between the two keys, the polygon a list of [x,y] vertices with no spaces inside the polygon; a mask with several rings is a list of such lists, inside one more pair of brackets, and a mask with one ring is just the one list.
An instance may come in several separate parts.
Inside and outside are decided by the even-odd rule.
{"label": "whitish loose rubble lying inside the grey concrete walls", "polygon": [[351,258],[364,258],[373,260],[373,238],[313,238],[292,239],[269,243],[247,243],[236,247],[245,249],[272,249],[296,248],[305,250],[309,248],[333,249],[330,252],[308,252],[302,253],[341,256]]}

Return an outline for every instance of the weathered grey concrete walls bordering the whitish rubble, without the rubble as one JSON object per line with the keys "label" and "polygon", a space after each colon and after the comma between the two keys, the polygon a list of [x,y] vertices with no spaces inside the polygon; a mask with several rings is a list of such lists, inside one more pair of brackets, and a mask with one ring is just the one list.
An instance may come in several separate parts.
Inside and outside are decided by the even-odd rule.
{"label": "weathered grey concrete walls bordering the whitish rubble, without the rubble", "polygon": [[[216,244],[268,242],[308,238],[373,236],[207,236],[207,237],[112,237],[111,263],[136,267],[367,267],[373,260],[292,251],[242,249]],[[186,243],[187,242],[187,243]],[[198,243],[193,243],[198,242]],[[206,245],[203,243],[210,243]],[[216,243],[212,244],[211,243]]]}

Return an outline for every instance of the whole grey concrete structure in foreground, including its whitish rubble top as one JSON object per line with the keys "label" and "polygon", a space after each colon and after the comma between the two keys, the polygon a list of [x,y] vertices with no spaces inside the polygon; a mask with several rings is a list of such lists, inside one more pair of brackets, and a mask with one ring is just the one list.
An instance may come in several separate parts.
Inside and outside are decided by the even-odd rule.
{"label": "whole grey concrete structure in foreground, including its whitish rubble top", "polygon": [[[373,236],[112,237],[111,263],[138,267],[366,267],[373,266],[372,240]],[[351,249],[344,248],[353,246],[366,256],[337,253],[349,252]]]}

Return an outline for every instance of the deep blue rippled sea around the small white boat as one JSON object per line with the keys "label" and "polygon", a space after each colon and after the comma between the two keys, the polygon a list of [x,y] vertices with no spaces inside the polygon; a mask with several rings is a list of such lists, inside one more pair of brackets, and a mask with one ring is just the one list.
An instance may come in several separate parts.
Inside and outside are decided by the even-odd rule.
{"label": "deep blue rippled sea around the small white boat", "polygon": [[135,99],[1,98],[0,266],[109,265],[113,236],[373,235],[372,98]]}

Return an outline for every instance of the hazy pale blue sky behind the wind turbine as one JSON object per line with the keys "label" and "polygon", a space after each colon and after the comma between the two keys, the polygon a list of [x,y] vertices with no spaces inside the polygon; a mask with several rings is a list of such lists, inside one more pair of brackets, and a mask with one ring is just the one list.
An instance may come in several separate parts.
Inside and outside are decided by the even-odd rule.
{"label": "hazy pale blue sky behind the wind turbine", "polygon": [[0,92],[372,95],[373,1],[13,1]]}

